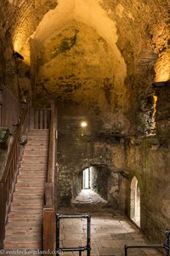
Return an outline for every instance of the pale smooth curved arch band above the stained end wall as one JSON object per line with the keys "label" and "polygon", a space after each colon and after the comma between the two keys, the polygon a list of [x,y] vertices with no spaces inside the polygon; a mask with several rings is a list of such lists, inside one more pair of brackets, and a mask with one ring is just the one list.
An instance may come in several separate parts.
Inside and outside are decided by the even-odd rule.
{"label": "pale smooth curved arch band above the stained end wall", "polygon": [[[37,46],[46,44],[50,38],[54,37],[54,34],[61,32],[65,27],[71,26],[71,22],[74,20],[94,28],[94,32],[104,38],[115,57],[117,66],[115,76],[119,76],[116,83],[123,84],[126,77],[126,64],[116,46],[116,22],[109,19],[105,11],[99,6],[99,0],[59,1],[57,8],[48,12],[37,27],[37,32],[33,37],[37,41]],[[121,70],[121,78],[119,70]]]}

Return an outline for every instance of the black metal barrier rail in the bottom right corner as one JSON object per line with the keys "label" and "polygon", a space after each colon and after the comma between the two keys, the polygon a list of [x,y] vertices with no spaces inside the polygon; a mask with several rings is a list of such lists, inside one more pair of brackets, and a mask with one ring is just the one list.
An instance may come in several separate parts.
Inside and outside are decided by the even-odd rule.
{"label": "black metal barrier rail in the bottom right corner", "polygon": [[169,256],[169,236],[170,236],[170,230],[165,230],[165,243],[164,244],[157,244],[157,245],[135,245],[135,246],[124,246],[125,249],[125,256],[127,256],[127,249],[139,249],[139,248],[143,248],[143,249],[165,249],[165,255]]}

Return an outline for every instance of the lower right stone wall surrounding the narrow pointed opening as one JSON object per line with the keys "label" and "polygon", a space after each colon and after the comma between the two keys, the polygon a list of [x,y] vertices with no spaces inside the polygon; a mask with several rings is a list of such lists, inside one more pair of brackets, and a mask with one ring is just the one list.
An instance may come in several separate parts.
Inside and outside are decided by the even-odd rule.
{"label": "lower right stone wall surrounding the narrow pointed opening", "polygon": [[150,241],[162,242],[169,225],[169,82],[156,88],[156,135],[126,140],[127,212],[130,216],[130,183],[138,178],[141,192],[141,228]]}

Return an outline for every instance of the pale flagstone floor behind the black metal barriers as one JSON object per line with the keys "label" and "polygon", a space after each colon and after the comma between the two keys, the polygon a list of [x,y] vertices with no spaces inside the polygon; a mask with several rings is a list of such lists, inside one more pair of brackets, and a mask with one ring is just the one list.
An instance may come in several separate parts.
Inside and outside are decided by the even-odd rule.
{"label": "pale flagstone floor behind the black metal barriers", "polygon": [[[86,245],[87,219],[60,219],[60,247],[79,247]],[[124,245],[145,245],[149,241],[144,234],[122,214],[92,213],[91,218],[91,256],[123,256]],[[65,256],[78,256],[78,252],[61,253]],[[87,255],[83,252],[82,256]],[[128,256],[159,256],[155,249],[128,249]]]}

